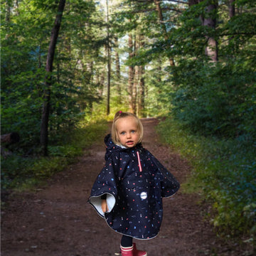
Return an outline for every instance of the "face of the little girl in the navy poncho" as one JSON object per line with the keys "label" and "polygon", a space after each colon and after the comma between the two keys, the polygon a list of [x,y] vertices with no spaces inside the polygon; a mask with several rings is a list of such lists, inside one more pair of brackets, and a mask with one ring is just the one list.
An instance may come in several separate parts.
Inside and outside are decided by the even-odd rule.
{"label": "face of the little girl in the navy poncho", "polygon": [[134,117],[123,117],[117,120],[117,134],[123,146],[136,146],[139,141],[137,120]]}

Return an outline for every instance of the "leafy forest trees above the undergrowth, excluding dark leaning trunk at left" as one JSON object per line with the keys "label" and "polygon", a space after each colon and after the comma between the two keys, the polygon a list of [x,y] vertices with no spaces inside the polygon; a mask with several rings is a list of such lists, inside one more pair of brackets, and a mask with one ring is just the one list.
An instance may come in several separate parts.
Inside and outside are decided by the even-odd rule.
{"label": "leafy forest trees above the undergrowth, excluding dark leaning trunk at left", "polygon": [[101,102],[255,138],[255,1],[68,1],[48,85],[57,14],[56,1],[1,4],[2,133],[37,144],[48,91],[50,137]]}

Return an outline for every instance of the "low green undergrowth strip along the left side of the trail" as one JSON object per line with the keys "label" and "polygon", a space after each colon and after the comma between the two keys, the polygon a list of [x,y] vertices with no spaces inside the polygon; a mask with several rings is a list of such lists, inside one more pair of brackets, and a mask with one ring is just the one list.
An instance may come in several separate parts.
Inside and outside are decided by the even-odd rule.
{"label": "low green undergrowth strip along the left side of the trail", "polygon": [[47,157],[36,154],[23,156],[18,151],[6,158],[1,156],[1,190],[23,191],[35,188],[76,161],[83,149],[99,141],[106,130],[105,120],[80,123],[73,132],[62,134],[58,141],[50,141]]}

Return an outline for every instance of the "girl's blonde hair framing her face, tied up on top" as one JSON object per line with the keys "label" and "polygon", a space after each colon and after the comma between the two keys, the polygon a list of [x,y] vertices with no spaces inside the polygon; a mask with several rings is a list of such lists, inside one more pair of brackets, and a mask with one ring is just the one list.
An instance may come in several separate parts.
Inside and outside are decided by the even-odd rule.
{"label": "girl's blonde hair framing her face, tied up on top", "polygon": [[132,114],[131,112],[118,111],[114,114],[114,120],[113,120],[113,123],[112,123],[112,129],[111,129],[111,137],[112,137],[112,141],[114,142],[114,144],[120,144],[119,136],[118,136],[118,133],[117,133],[117,120],[120,119],[120,118],[125,118],[125,117],[134,117],[134,119],[136,119],[138,134],[139,134],[138,143],[142,142],[143,125],[142,125],[142,122],[139,119],[139,117],[137,117],[136,114]]}

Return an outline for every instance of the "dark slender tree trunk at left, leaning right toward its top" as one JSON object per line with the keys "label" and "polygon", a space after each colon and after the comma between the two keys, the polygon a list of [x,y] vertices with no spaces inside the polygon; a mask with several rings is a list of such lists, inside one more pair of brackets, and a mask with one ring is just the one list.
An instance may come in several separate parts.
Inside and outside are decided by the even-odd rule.
{"label": "dark slender tree trunk at left, leaning right toward its top", "polygon": [[48,48],[48,55],[46,59],[46,88],[43,90],[43,113],[41,118],[41,134],[40,144],[43,147],[43,154],[48,154],[48,122],[50,114],[50,85],[51,85],[51,73],[53,71],[53,58],[55,53],[55,47],[58,39],[58,33],[60,31],[61,18],[65,7],[65,0],[60,0],[58,5],[58,13],[55,18],[55,23],[50,36],[50,45]]}

